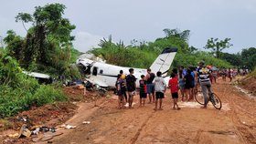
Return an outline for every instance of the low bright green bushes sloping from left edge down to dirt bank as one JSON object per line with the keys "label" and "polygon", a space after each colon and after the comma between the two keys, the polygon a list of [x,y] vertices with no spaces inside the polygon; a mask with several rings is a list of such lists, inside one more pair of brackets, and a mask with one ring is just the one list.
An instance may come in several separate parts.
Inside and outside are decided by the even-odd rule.
{"label": "low bright green bushes sloping from left edge down to dirt bank", "polygon": [[16,59],[0,51],[0,118],[10,117],[31,106],[67,101],[59,87],[39,85],[22,73]]}

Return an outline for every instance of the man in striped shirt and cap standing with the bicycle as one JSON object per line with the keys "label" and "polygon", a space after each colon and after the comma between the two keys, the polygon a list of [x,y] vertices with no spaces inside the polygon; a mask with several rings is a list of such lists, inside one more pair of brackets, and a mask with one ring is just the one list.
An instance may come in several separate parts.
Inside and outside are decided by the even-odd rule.
{"label": "man in striped shirt and cap standing with the bicycle", "polygon": [[202,92],[204,96],[204,106],[201,108],[207,108],[208,106],[208,93],[211,93],[211,83],[210,83],[210,70],[208,67],[205,67],[205,61],[200,61],[199,62],[199,68],[197,69],[198,77],[199,77],[199,82],[202,87]]}

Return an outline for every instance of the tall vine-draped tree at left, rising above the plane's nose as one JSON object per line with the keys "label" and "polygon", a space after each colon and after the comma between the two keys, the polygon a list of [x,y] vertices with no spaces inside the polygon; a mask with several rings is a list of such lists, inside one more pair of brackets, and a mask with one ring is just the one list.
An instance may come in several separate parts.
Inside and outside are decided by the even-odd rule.
{"label": "tall vine-draped tree at left, rising above the plane's nose", "polygon": [[18,13],[16,22],[21,21],[23,26],[24,23],[32,23],[22,48],[22,66],[36,63],[41,70],[54,67],[59,73],[69,67],[71,41],[74,40],[70,33],[75,26],[62,17],[65,8],[61,4],[48,4],[36,6],[33,15]]}

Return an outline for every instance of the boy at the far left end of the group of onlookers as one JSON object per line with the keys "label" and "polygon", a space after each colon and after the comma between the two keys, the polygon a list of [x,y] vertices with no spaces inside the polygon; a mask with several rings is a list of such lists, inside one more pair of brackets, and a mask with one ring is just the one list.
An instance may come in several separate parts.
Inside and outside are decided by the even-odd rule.
{"label": "boy at the far left end of the group of onlookers", "polygon": [[117,108],[123,108],[123,103],[124,103],[124,91],[125,91],[125,82],[121,78],[121,75],[117,76],[117,81],[116,81],[116,89],[117,89],[117,95],[118,95],[118,106]]}

